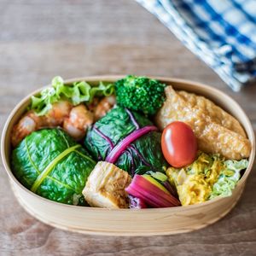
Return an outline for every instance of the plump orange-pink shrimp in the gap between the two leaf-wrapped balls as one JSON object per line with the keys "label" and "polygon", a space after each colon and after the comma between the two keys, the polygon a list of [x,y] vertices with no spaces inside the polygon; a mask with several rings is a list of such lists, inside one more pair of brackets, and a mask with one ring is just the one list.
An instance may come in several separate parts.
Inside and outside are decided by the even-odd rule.
{"label": "plump orange-pink shrimp in the gap between the two leaf-wrapped balls", "polygon": [[87,128],[93,123],[93,113],[83,104],[72,108],[69,118],[64,120],[63,129],[76,139],[84,137]]}

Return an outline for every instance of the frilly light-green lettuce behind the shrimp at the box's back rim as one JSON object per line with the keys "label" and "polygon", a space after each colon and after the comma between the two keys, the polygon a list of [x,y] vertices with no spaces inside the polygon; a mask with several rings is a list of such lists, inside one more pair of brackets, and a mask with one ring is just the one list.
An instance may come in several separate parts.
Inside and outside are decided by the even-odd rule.
{"label": "frilly light-green lettuce behind the shrimp at the box's back rim", "polygon": [[38,115],[44,115],[52,104],[60,100],[67,100],[78,105],[81,102],[91,102],[94,96],[110,96],[114,92],[113,84],[103,84],[91,87],[90,84],[80,81],[73,84],[64,84],[61,77],[52,79],[51,87],[40,92],[39,96],[32,96],[30,109]]}

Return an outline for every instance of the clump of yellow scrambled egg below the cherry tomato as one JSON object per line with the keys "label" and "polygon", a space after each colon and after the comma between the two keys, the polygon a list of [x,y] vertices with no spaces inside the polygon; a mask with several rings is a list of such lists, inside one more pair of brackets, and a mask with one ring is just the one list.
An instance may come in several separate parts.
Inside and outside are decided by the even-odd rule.
{"label": "clump of yellow scrambled egg below the cherry tomato", "polygon": [[169,167],[166,175],[176,187],[177,195],[183,206],[207,201],[224,169],[224,161],[218,155],[199,152],[197,160],[181,169]]}

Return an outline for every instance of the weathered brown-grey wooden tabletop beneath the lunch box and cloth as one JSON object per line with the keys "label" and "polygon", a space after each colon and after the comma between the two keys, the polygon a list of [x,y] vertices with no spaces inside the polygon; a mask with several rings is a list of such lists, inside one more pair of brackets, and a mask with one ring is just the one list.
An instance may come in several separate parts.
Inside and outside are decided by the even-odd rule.
{"label": "weathered brown-grey wooden tabletop beneath the lunch box and cloth", "polygon": [[[256,86],[232,92],[134,1],[0,0],[0,120],[55,75],[144,74],[210,84],[241,104],[256,130]],[[1,255],[256,255],[256,168],[236,208],[216,224],[177,236],[83,236],[28,215],[1,163]]]}

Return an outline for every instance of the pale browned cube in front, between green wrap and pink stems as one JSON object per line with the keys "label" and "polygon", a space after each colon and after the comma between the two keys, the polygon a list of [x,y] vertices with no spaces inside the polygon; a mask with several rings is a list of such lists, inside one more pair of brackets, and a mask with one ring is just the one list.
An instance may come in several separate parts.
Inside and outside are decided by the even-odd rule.
{"label": "pale browned cube in front, between green wrap and pink stems", "polygon": [[100,161],[90,173],[83,189],[85,200],[91,207],[128,208],[125,188],[131,176],[111,163]]}

